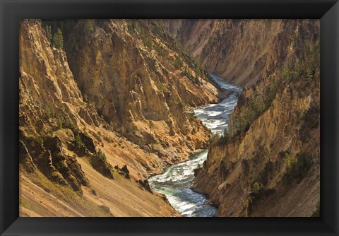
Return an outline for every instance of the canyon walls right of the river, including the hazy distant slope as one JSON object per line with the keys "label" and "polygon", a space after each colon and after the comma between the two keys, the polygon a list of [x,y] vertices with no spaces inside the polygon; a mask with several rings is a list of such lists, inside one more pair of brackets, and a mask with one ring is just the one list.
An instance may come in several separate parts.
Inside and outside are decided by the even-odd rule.
{"label": "canyon walls right of the river, including the hazy distant slope", "polygon": [[[319,22],[177,20],[169,29],[209,71],[244,86],[193,189],[210,196],[216,216],[314,216],[320,205]],[[220,40],[223,34],[230,39]]]}

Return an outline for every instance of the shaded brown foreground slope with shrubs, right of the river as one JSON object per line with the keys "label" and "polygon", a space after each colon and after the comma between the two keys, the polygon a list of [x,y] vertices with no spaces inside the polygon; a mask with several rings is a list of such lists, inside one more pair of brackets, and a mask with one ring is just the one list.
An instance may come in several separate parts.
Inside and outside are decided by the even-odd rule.
{"label": "shaded brown foreground slope with shrubs, right of the river", "polygon": [[198,171],[193,187],[210,195],[217,216],[312,216],[319,208],[319,21],[291,20],[285,29],[275,45],[284,60],[244,90]]}

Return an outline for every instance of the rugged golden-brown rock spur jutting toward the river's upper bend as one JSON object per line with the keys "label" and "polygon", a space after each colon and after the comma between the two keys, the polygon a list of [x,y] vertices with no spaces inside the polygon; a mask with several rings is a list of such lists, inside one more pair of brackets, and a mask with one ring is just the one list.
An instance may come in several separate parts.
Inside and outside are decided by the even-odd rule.
{"label": "rugged golden-brown rock spur jutting toward the river's upper bend", "polygon": [[208,131],[187,111],[217,102],[222,91],[203,73],[185,76],[195,65],[163,40],[165,31],[148,20],[96,20],[81,36],[83,22],[72,26],[66,52],[73,75],[114,131],[168,164],[187,158],[191,147],[206,147]]}

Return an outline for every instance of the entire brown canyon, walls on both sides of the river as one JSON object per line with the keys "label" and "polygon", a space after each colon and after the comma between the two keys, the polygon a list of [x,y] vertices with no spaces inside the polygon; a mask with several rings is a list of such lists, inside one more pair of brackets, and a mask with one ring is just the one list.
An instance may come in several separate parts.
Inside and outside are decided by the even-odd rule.
{"label": "entire brown canyon, walls on both sides of the river", "polygon": [[[181,216],[147,179],[206,148],[215,216],[319,209],[319,20],[21,20],[19,42],[20,216]],[[217,132],[209,73],[243,88]]]}

